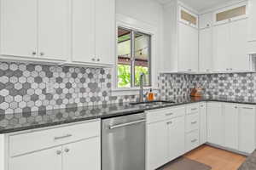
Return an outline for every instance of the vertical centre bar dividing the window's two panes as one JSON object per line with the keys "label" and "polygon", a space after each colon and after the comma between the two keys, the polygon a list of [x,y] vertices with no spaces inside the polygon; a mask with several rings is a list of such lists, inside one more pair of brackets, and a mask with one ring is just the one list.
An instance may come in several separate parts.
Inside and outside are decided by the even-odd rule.
{"label": "vertical centre bar dividing the window's two panes", "polygon": [[131,31],[131,87],[135,87],[135,33]]}

